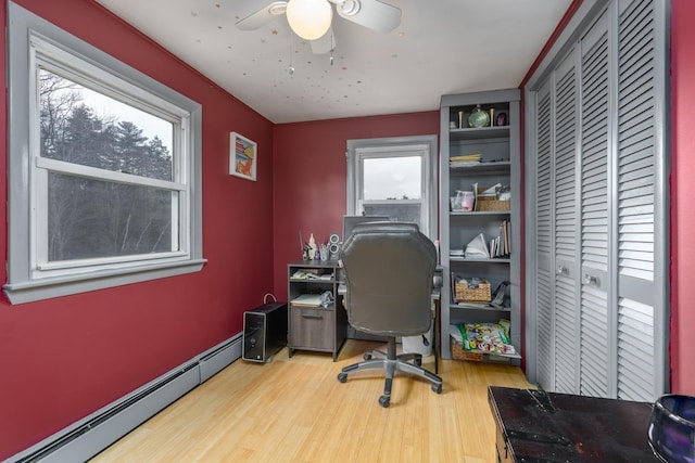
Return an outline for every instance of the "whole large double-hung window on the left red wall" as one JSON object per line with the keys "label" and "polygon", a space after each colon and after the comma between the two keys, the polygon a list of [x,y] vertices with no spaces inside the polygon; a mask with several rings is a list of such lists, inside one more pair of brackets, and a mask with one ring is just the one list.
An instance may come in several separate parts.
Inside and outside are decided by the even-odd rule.
{"label": "whole large double-hung window on the left red wall", "polygon": [[200,105],[10,14],[11,301],[199,270]]}

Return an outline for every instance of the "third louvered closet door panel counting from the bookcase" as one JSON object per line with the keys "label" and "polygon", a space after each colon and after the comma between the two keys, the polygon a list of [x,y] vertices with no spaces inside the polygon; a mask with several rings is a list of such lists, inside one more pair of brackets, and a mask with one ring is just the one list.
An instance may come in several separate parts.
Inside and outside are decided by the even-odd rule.
{"label": "third louvered closet door panel counting from the bookcase", "polygon": [[581,301],[580,385],[586,396],[609,397],[608,301],[608,20],[580,41],[581,49]]}

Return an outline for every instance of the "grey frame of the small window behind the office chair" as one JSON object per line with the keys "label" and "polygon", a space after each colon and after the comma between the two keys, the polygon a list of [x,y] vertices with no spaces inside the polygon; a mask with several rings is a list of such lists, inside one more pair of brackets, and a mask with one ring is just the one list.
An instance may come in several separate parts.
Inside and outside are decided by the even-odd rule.
{"label": "grey frame of the small window behind the office chair", "polygon": [[[434,241],[437,233],[437,136],[348,140],[348,215],[359,216],[368,204],[420,204],[421,231]],[[363,197],[365,159],[414,156],[421,159],[419,200],[376,200]]]}

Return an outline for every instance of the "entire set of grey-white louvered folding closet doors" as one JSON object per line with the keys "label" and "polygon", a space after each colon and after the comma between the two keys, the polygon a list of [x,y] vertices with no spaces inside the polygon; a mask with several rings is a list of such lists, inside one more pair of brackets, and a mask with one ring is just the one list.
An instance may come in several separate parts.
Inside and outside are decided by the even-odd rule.
{"label": "entire set of grey-white louvered folding closet doors", "polygon": [[668,391],[665,11],[605,2],[532,90],[531,364],[548,390],[639,401]]}

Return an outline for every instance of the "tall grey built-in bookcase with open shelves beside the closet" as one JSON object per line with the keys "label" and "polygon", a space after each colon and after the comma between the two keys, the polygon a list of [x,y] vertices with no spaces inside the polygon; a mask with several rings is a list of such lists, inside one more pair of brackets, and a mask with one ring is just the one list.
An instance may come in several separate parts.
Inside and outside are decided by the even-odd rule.
{"label": "tall grey built-in bookcase with open shelves beside the closet", "polygon": [[[507,89],[489,92],[460,93],[443,95],[441,100],[441,138],[440,138],[440,249],[442,265],[450,271],[444,275],[442,293],[452,290],[453,274],[467,274],[484,278],[490,282],[500,283],[508,281],[505,288],[504,305],[506,307],[485,307],[485,305],[472,305],[465,301],[455,303],[456,298],[450,295],[447,303],[441,307],[442,325],[460,322],[497,323],[500,319],[508,319],[510,323],[509,340],[517,352],[521,349],[521,310],[519,282],[520,261],[519,253],[514,249],[521,248],[519,240],[520,217],[520,145],[519,120],[520,92],[518,89]],[[495,114],[506,113],[507,125],[493,127],[467,127],[470,113],[480,106],[484,111],[494,110]],[[463,114],[460,114],[463,113]],[[452,128],[451,124],[464,124],[463,128]],[[465,159],[477,159],[480,163],[465,165]],[[456,160],[458,159],[458,160]],[[507,210],[451,210],[451,198],[457,191],[486,190],[497,183],[509,189],[510,201],[507,204],[484,205],[480,209],[494,209],[504,207]],[[445,204],[447,203],[447,204]],[[486,206],[486,207],[485,207]],[[504,228],[508,221],[511,227]],[[505,236],[504,233],[507,233]],[[473,243],[478,235],[482,235],[485,245],[490,248],[490,242],[501,236],[508,248],[508,253],[502,257],[465,257],[463,249],[467,243]],[[473,241],[471,241],[471,239]],[[506,239],[506,240],[505,240]],[[507,242],[508,240],[508,242]],[[470,242],[470,243],[469,243]],[[482,245],[482,243],[479,243]],[[451,255],[454,253],[455,255]],[[478,256],[485,256],[480,253]],[[496,253],[495,253],[496,255]],[[494,287],[492,288],[494,290]],[[496,290],[494,290],[496,292]],[[442,335],[442,357],[452,358],[452,348],[445,336]],[[510,358],[501,355],[473,351],[470,356],[479,357],[478,361],[509,362]],[[513,358],[518,359],[518,356]],[[490,359],[490,360],[489,360]]]}

